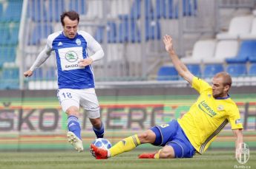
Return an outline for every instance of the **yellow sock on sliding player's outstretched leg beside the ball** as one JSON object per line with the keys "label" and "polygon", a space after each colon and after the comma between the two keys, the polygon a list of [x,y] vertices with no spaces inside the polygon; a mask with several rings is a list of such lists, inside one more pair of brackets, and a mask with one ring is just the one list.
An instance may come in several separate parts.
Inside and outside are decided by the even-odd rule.
{"label": "yellow sock on sliding player's outstretched leg beside the ball", "polygon": [[117,154],[122,154],[123,152],[131,151],[140,145],[140,139],[137,134],[122,139],[122,141],[117,142],[112,148],[109,149],[110,156],[116,156]]}

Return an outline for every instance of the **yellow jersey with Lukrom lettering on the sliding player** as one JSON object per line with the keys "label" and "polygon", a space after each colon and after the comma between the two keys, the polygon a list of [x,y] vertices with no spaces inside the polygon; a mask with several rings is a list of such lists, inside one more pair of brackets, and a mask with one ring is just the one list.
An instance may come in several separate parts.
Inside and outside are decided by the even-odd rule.
{"label": "yellow jersey with Lukrom lettering on the sliding player", "polygon": [[198,77],[193,78],[192,87],[200,96],[177,121],[197,152],[202,154],[227,123],[232,129],[243,128],[243,125],[237,105],[230,97],[215,99],[209,83]]}

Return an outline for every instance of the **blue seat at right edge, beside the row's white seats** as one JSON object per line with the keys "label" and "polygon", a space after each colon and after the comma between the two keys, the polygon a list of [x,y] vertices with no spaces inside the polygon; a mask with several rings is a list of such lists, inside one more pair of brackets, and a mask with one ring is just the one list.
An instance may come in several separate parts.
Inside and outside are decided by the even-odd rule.
{"label": "blue seat at right edge, beside the row's white seats", "polygon": [[256,41],[242,41],[237,57],[226,58],[226,63],[246,63],[250,58],[256,58]]}

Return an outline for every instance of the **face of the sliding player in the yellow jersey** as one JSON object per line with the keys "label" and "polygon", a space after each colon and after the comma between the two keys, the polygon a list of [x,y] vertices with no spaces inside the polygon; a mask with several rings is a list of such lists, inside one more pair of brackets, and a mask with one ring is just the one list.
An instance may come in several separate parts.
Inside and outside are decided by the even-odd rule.
{"label": "face of the sliding player in the yellow jersey", "polygon": [[213,77],[212,95],[214,98],[227,96],[226,86],[223,85],[223,77]]}

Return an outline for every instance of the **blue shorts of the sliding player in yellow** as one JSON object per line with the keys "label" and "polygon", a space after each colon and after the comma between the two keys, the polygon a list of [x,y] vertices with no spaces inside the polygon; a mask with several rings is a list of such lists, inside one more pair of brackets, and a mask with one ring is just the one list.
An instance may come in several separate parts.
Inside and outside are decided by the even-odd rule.
{"label": "blue shorts of the sliding player in yellow", "polygon": [[171,120],[171,122],[163,125],[156,125],[151,128],[151,131],[156,134],[156,140],[152,145],[170,145],[174,148],[175,158],[191,158],[194,156],[196,150],[189,142],[177,120]]}

